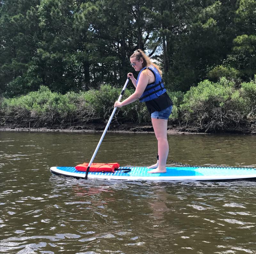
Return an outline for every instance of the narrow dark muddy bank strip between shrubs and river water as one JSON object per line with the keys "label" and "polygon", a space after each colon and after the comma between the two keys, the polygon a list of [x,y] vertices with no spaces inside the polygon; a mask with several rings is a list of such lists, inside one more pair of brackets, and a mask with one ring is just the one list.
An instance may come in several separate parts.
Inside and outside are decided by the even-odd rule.
{"label": "narrow dark muddy bank strip between shrubs and river water", "polygon": [[[0,127],[1,131],[43,131],[43,132],[94,132],[94,131],[104,131],[106,123],[83,123],[75,125],[52,125],[44,127],[31,127],[24,125],[13,125],[5,124]],[[129,132],[129,133],[153,133],[154,129],[151,123],[111,123],[108,131],[110,132]],[[230,127],[225,131],[215,131],[215,130],[204,130],[202,128],[196,128],[194,126],[180,124],[168,124],[167,127],[168,134],[211,134],[211,133],[230,133],[230,134],[247,134],[256,135],[256,124],[255,122],[240,124],[236,127]]]}

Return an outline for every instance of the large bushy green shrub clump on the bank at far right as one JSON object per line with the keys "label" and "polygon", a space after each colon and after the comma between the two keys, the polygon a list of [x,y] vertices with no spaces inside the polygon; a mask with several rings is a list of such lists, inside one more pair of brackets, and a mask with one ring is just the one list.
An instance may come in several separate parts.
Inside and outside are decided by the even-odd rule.
{"label": "large bushy green shrub clump on the bank at far right", "polygon": [[184,121],[205,131],[226,130],[246,119],[256,120],[255,93],[255,80],[240,89],[225,77],[217,83],[204,80],[185,94],[180,110]]}

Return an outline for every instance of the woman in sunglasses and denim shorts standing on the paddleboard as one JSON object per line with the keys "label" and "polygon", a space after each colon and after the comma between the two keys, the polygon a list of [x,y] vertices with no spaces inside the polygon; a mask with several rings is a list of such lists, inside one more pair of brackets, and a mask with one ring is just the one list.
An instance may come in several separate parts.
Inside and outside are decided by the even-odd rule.
{"label": "woman in sunglasses and denim shorts standing on the paddleboard", "polygon": [[167,120],[172,112],[172,100],[164,88],[161,70],[142,50],[135,51],[130,61],[134,70],[140,71],[137,80],[132,73],[127,75],[136,88],[135,92],[122,102],[116,101],[114,107],[123,107],[137,99],[140,99],[140,102],[146,102],[158,141],[157,162],[148,167],[153,169],[148,173],[165,173],[169,153]]}

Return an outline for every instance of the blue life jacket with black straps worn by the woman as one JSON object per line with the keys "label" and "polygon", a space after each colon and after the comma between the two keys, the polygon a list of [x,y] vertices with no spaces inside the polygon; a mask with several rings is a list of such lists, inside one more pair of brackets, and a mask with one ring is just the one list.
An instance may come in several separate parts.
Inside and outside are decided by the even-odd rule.
{"label": "blue life jacket with black straps worn by the woman", "polygon": [[163,83],[162,77],[160,76],[160,74],[157,71],[157,69],[155,67],[153,67],[153,66],[144,67],[144,68],[142,68],[140,70],[140,73],[139,73],[138,78],[137,78],[136,86],[138,84],[141,72],[143,70],[147,69],[147,68],[154,73],[154,75],[155,75],[155,82],[154,83],[150,83],[150,84],[148,84],[146,86],[143,94],[140,97],[140,102],[145,102],[145,101],[156,99],[160,95],[162,95],[162,94],[164,94],[166,92],[166,89],[164,88],[164,83]]}

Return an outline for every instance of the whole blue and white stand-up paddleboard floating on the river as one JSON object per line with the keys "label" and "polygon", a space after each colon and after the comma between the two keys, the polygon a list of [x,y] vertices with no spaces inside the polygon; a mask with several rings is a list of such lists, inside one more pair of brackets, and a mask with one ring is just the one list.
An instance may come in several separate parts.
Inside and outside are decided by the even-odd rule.
{"label": "whole blue and white stand-up paddleboard floating on the river", "polygon": [[[130,169],[130,171],[129,171]],[[233,167],[167,167],[166,173],[150,174],[147,167],[120,167],[118,171],[112,172],[88,172],[90,179],[107,180],[146,180],[146,181],[200,181],[200,180],[256,180],[256,169],[233,168]],[[75,167],[51,167],[54,175],[84,178],[84,171],[77,171]],[[128,172],[127,172],[128,171]]]}

